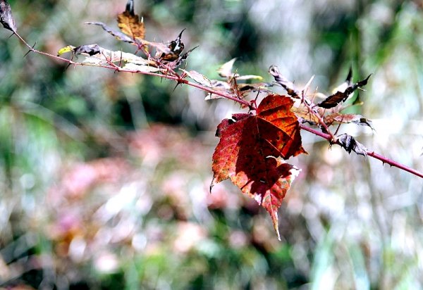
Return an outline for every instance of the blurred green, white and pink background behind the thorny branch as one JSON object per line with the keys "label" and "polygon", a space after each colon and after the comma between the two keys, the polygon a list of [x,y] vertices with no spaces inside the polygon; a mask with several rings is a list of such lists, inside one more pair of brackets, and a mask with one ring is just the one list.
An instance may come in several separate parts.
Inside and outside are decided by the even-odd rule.
{"label": "blurred green, white and pink background behind the thorny branch", "polygon": [[[97,43],[135,52],[116,27],[125,0],[9,1],[38,49]],[[423,2],[135,0],[146,39],[181,30],[188,69],[217,78],[270,65],[331,92],[372,73],[344,125],[368,149],[423,171]],[[422,289],[423,179],[302,132],[309,156],[279,210],[214,187],[224,99],[157,77],[30,53],[0,30],[1,289]],[[79,57],[82,60],[82,56]],[[283,92],[276,89],[276,92]]]}

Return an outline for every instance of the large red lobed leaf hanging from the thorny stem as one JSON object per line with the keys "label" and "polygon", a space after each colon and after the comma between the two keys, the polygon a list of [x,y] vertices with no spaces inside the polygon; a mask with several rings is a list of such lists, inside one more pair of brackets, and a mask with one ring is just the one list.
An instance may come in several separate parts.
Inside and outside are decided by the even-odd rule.
{"label": "large red lobed leaf hanging from the thorny stem", "polygon": [[241,113],[223,120],[217,127],[220,141],[213,154],[211,187],[230,178],[266,208],[277,233],[277,210],[298,175],[297,168],[278,157],[306,153],[292,106],[290,98],[272,94],[260,103],[257,115]]}

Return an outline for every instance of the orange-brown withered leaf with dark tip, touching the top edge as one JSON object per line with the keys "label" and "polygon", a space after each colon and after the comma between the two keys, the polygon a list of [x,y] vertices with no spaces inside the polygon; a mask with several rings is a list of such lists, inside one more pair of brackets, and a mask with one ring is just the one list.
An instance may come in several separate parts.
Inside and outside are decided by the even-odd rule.
{"label": "orange-brown withered leaf with dark tip, touching the top edge", "polygon": [[134,13],[134,1],[128,0],[126,9],[118,14],[118,27],[132,39],[144,39],[145,27],[142,18]]}

